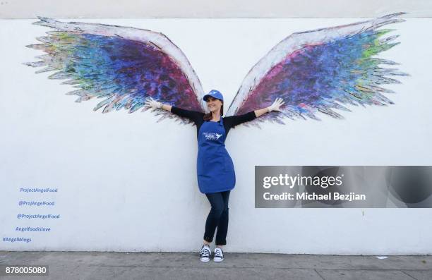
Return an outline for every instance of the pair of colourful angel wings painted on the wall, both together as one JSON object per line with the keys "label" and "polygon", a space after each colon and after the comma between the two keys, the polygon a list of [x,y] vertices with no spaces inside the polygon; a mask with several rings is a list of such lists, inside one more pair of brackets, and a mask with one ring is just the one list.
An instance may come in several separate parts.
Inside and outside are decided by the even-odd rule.
{"label": "pair of colourful angel wings painted on the wall, both together", "polygon": [[[251,68],[236,93],[226,116],[246,114],[269,106],[282,97],[281,112],[272,111],[245,126],[263,121],[282,123],[283,118],[319,120],[318,111],[343,118],[332,109],[350,111],[342,104],[392,104],[383,93],[392,92],[380,85],[400,83],[386,76],[407,75],[381,64],[397,63],[375,57],[394,47],[397,36],[385,37],[392,30],[383,25],[400,23],[394,13],[360,23],[298,32],[283,39]],[[162,33],[138,28],[95,23],[62,23],[49,18],[33,23],[54,28],[43,44],[27,47],[47,52],[42,61],[25,63],[47,66],[37,71],[56,71],[49,76],[69,79],[78,90],[76,100],[103,99],[95,110],[103,112],[144,106],[152,97],[160,102],[193,111],[205,111],[203,88],[183,52]],[[143,111],[148,109],[144,107]],[[163,118],[180,118],[162,109]],[[181,118],[184,123],[191,123]]]}

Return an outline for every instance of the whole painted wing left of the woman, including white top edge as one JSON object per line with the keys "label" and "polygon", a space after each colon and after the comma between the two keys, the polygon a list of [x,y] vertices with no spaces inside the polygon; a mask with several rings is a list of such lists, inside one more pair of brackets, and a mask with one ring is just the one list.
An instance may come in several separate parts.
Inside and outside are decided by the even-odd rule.
{"label": "whole painted wing left of the woman, including white top edge", "polygon": [[[204,111],[203,88],[183,52],[162,33],[138,28],[95,23],[63,23],[38,17],[33,24],[54,28],[48,36],[38,37],[43,44],[26,47],[47,54],[42,61],[25,65],[42,68],[36,73],[56,71],[51,79],[68,79],[73,85],[66,95],[78,95],[76,102],[101,99],[94,110],[107,113],[121,108],[129,113],[144,106],[147,97],[194,111]],[[157,111],[163,118],[178,118]]]}

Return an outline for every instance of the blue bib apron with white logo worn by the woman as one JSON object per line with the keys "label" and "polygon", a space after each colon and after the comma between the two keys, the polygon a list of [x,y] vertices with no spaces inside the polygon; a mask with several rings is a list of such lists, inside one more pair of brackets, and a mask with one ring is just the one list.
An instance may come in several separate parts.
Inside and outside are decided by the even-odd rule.
{"label": "blue bib apron with white logo worn by the woman", "polygon": [[196,171],[201,193],[232,190],[236,184],[234,164],[225,149],[226,137],[222,116],[220,121],[204,121],[200,127]]}

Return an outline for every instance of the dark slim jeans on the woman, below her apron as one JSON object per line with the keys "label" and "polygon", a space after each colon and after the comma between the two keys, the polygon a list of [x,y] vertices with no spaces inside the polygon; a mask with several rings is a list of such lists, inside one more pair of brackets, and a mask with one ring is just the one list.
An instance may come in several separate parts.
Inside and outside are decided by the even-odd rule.
{"label": "dark slim jeans on the woman, below her apron", "polygon": [[216,245],[227,244],[227,232],[228,232],[228,199],[229,192],[226,190],[220,193],[206,193],[212,209],[208,213],[207,220],[205,221],[205,233],[204,240],[208,242],[213,241],[213,236],[216,233]]}

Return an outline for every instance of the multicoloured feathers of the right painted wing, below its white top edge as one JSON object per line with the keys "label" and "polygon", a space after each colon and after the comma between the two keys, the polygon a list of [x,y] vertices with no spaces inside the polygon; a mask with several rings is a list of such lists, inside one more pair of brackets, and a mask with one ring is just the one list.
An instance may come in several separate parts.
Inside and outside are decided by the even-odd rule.
{"label": "multicoloured feathers of the right painted wing, below its white top edge", "polygon": [[[373,58],[395,46],[395,37],[380,39],[390,30],[366,30],[331,42],[301,45],[265,73],[248,93],[236,115],[270,106],[278,97],[284,100],[280,116],[316,118],[321,111],[343,118],[332,109],[348,109],[342,104],[392,104],[380,94],[380,84],[399,83],[385,75],[407,75],[378,64],[392,61]],[[339,102],[339,103],[337,103]],[[266,114],[263,118],[277,118]]]}

